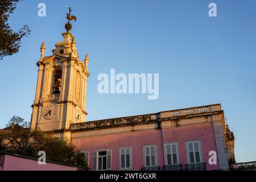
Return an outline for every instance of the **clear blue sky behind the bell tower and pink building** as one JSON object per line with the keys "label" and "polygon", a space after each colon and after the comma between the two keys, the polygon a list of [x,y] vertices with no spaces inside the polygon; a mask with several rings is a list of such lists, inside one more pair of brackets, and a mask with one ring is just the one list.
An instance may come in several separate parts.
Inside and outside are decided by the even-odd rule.
{"label": "clear blue sky behind the bell tower and pink building", "polygon": [[[38,4],[46,3],[46,17]],[[208,5],[217,5],[210,18]],[[91,0],[18,3],[10,26],[31,35],[0,61],[0,128],[13,115],[30,121],[40,46],[52,55],[68,6],[80,59],[89,54],[88,121],[220,103],[236,137],[237,162],[256,160],[256,1]],[[159,73],[159,98],[99,94],[100,73]]]}

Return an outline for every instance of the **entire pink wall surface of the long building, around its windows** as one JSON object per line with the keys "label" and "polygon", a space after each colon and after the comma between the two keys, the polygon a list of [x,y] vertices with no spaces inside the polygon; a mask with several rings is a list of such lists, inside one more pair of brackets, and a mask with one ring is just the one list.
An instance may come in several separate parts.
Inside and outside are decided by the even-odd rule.
{"label": "entire pink wall surface of the long building, around its windows", "polygon": [[[85,131],[86,132],[86,131]],[[217,165],[208,164],[208,152],[216,150],[216,143],[212,124],[193,125],[163,129],[164,143],[178,142],[180,162],[185,167],[187,156],[185,152],[185,141],[201,140],[204,162],[207,163],[207,170],[218,169]],[[133,170],[141,170],[143,167],[143,150],[142,146],[147,144],[156,144],[158,155],[158,166],[164,166],[163,142],[161,130],[149,130],[141,132],[130,132],[114,135],[103,135],[98,137],[89,137],[81,139],[72,139],[73,144],[79,150],[89,152],[89,166],[92,168],[93,151],[112,150],[112,170],[119,169],[118,148],[133,148]]]}

